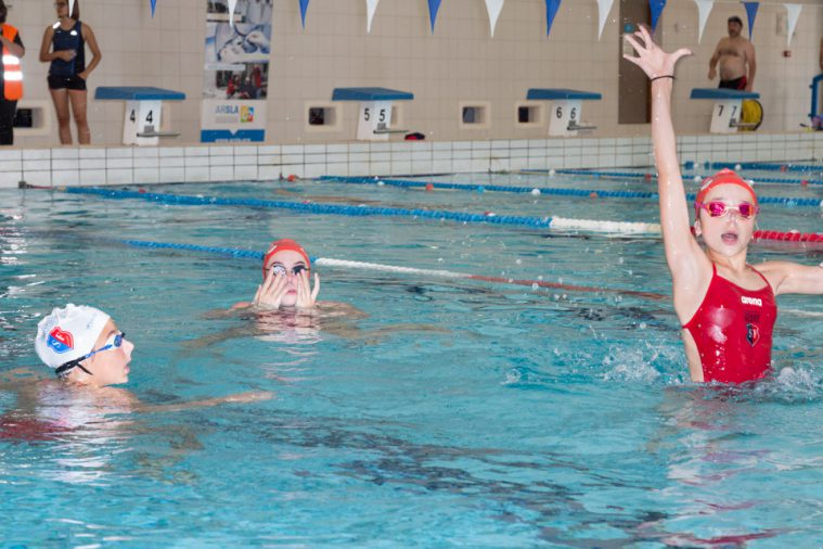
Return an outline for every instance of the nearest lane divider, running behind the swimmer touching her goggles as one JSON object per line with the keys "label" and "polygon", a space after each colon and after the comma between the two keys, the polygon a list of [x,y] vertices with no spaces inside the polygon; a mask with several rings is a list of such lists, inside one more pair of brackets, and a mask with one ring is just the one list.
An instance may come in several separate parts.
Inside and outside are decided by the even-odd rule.
{"label": "nearest lane divider, running behind the swimmer touching her goggles", "polygon": [[[261,261],[265,257],[262,252],[255,252],[253,250],[242,250],[234,247],[216,247],[216,246],[201,246],[196,244],[177,244],[172,242],[153,242],[145,240],[114,240],[119,244],[125,244],[132,247],[142,247],[149,250],[180,250],[184,252],[197,252],[204,254],[217,254],[230,257],[237,257],[244,259],[256,259]],[[397,274],[414,274],[422,278],[442,278],[442,279],[462,279],[462,280],[476,280],[480,282],[491,282],[497,284],[529,286],[532,290],[550,289],[550,290],[566,290],[570,292],[586,292],[586,293],[602,293],[602,294],[618,294],[628,295],[633,297],[643,297],[654,301],[667,301],[669,297],[663,294],[654,292],[640,292],[636,290],[619,290],[612,288],[594,288],[594,286],[581,286],[577,284],[566,284],[564,282],[550,282],[538,279],[513,279],[504,277],[486,277],[483,274],[472,274],[468,272],[459,272],[443,269],[420,269],[415,267],[400,267],[397,265],[385,265],[378,263],[368,261],[352,261],[348,259],[335,259],[333,257],[310,257],[311,263],[321,267],[340,268],[340,269],[355,269],[359,271],[376,271],[376,272],[394,272]]]}

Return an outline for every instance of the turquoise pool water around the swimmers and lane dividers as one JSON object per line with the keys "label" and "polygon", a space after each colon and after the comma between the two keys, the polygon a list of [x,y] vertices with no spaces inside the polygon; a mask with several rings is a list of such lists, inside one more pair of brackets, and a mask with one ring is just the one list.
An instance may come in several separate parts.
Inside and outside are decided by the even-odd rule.
{"label": "turquoise pool water around the swimmers and lane dividers", "polygon": [[[746,174],[757,176],[760,173]],[[766,174],[766,173],[763,173]],[[771,174],[773,176],[773,174]],[[789,176],[786,176],[789,177]],[[477,175],[438,181],[651,190],[638,179]],[[130,188],[136,189],[136,188]],[[823,189],[763,186],[821,197]],[[189,195],[656,221],[653,200],[412,191],[326,182],[164,186]],[[564,233],[420,218],[171,206],[0,191],[0,368],[44,372],[38,318],[111,312],[147,404],[244,391],[277,398],[169,413],[82,395],[24,406],[49,436],[0,438],[5,546],[809,547],[821,539],[823,301],[781,297],[777,375],[687,382],[668,299],[506,284],[533,279],[668,294],[655,235]],[[761,229],[819,231],[819,207],[773,206]],[[216,315],[254,295],[259,264],[136,248],[126,239],[451,270],[325,268],[321,299],[357,318]],[[751,260],[823,260],[762,243]],[[25,421],[24,421],[25,420]]]}

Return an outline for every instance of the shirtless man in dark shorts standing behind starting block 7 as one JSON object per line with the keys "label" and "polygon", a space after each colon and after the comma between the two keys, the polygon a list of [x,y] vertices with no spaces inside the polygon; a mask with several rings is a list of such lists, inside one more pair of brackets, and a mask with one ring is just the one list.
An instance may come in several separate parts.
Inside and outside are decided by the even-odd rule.
{"label": "shirtless man in dark shorts standing behind starting block 7", "polygon": [[[741,36],[743,21],[733,15],[729,17],[729,37],[721,38],[709,61],[709,80],[717,76],[720,65],[720,88],[751,91],[757,72],[755,47]],[[747,74],[748,68],[748,74]]]}

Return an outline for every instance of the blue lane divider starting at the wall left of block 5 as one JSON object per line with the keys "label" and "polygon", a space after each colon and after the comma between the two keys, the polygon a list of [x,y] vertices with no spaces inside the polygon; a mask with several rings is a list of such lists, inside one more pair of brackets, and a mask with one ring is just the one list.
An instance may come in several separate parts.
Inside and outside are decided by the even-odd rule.
{"label": "blue lane divider starting at the wall left of block 5", "polygon": [[[601,189],[558,189],[546,187],[523,187],[506,184],[471,184],[471,183],[447,183],[437,181],[413,181],[409,179],[385,179],[374,177],[332,177],[325,176],[318,178],[317,181],[327,183],[346,183],[346,184],[374,184],[397,187],[400,189],[432,189],[447,191],[474,191],[474,192],[510,192],[516,194],[553,195],[553,196],[580,196],[587,199],[640,199],[657,200],[659,195],[656,192],[644,191],[607,191]],[[430,187],[429,187],[430,186]],[[696,195],[686,194],[686,200],[693,201]],[[803,199],[803,197],[785,197],[785,196],[758,196],[760,204],[781,204],[785,206],[811,206],[823,207],[823,199]]]}

